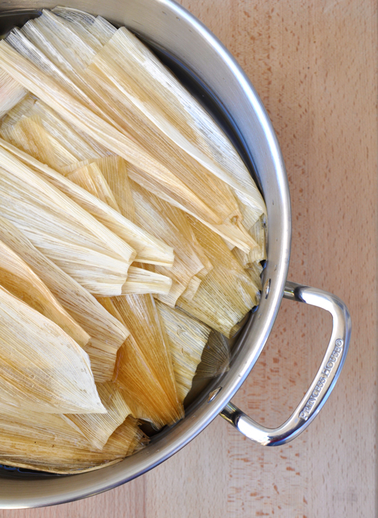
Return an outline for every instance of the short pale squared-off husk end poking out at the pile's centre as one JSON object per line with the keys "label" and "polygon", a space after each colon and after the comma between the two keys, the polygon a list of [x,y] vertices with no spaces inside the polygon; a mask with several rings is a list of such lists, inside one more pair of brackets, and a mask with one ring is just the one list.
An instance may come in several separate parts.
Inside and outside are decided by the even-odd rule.
{"label": "short pale squared-off husk end poking out at the pile's centre", "polygon": [[172,279],[169,277],[148,269],[130,266],[126,282],[122,287],[122,295],[153,293],[164,296],[168,295],[171,287]]}

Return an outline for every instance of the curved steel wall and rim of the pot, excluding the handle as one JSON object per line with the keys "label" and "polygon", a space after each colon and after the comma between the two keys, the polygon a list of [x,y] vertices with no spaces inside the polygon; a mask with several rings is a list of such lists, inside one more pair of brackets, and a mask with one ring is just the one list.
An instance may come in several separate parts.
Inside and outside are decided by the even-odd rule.
{"label": "curved steel wall and rim of the pot, excluding the handle", "polygon": [[[57,2],[46,1],[52,8]],[[209,386],[190,407],[186,418],[161,433],[146,449],[122,463],[83,475],[45,478],[5,477],[0,484],[0,507],[36,507],[76,500],[106,491],[141,475],[174,454],[209,424],[242,384],[265,345],[276,318],[290,255],[290,197],[281,151],[265,109],[251,83],[227,50],[204,25],[181,6],[164,0],[64,1],[65,6],[102,15],[126,25],[146,40],[166,49],[209,86],[229,114],[251,157],[267,204],[268,260],[264,281],[271,279],[269,295],[262,296],[239,338],[230,370]],[[0,11],[36,9],[33,1],[0,1]],[[222,390],[211,402],[209,392]]]}

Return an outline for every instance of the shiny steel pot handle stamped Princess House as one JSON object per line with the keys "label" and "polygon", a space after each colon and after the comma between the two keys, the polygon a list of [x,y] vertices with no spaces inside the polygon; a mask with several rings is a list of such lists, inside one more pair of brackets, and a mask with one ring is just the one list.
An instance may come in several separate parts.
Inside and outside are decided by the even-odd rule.
{"label": "shiny steel pot handle stamped Princess House", "polygon": [[221,416],[239,432],[263,446],[279,446],[293,440],[314,420],[339,377],[351,336],[349,311],[344,302],[335,295],[287,281],[283,297],[329,311],[333,321],[332,335],[314,381],[293,415],[282,426],[265,428],[232,405],[232,402],[221,412]]}

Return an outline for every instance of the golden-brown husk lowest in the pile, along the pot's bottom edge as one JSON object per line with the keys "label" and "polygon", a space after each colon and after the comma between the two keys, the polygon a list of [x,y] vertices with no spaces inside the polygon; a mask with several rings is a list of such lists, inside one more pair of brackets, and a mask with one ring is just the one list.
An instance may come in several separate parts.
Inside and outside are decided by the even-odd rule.
{"label": "golden-brown husk lowest in the pile, along the pot's bottom edge", "polygon": [[127,456],[130,446],[135,447],[139,442],[146,443],[147,439],[131,417],[113,432],[102,451],[69,442],[62,444],[53,437],[50,441],[43,438],[30,444],[28,435],[3,434],[0,435],[0,462],[30,470],[74,474],[119,462]]}

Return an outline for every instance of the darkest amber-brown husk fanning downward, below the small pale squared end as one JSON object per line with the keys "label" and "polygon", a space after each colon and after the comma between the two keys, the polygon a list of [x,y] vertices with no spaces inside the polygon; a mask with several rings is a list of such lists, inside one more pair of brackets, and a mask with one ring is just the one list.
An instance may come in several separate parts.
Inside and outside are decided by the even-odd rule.
{"label": "darkest amber-brown husk fanning downward, below the small pale squared end", "polygon": [[[124,295],[100,302],[132,335],[118,353],[115,370],[115,381],[125,390],[132,414],[150,419],[159,428],[181,419],[183,408],[176,392],[171,353],[153,297]],[[137,379],[131,382],[132,377]],[[146,388],[141,390],[143,386]]]}

